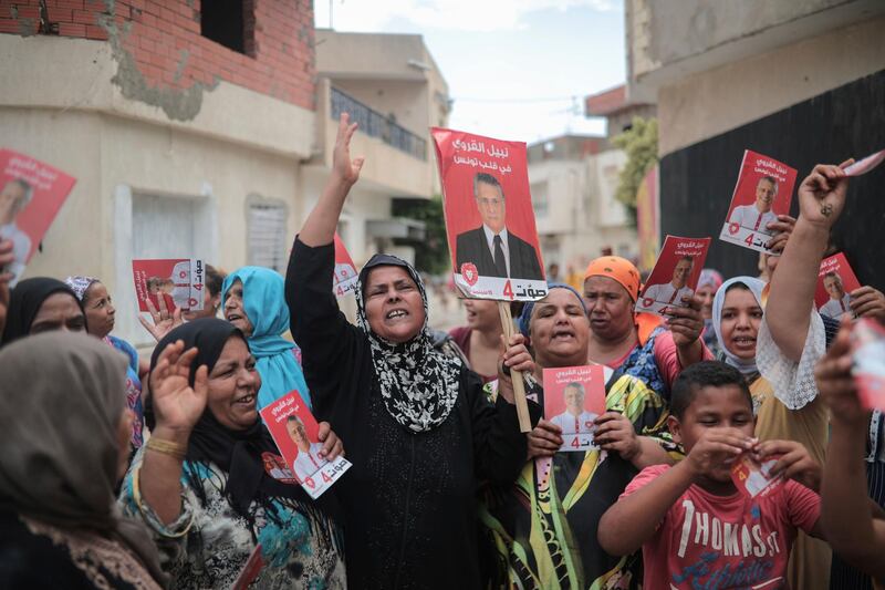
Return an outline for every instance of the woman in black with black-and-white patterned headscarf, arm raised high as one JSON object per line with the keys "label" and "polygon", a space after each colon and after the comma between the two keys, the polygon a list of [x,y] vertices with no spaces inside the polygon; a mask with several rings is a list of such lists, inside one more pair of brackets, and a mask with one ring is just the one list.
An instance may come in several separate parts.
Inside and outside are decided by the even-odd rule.
{"label": "woman in black with black-and-white patterned headscarf, arm raised high", "polygon": [[[357,325],[339,310],[333,237],[363,163],[351,161],[347,122],[343,114],[332,175],[292,249],[287,301],[315,413],[351,449],[353,467],[336,484],[348,582],[478,588],[477,483],[511,482],[525,460],[511,384],[491,405],[475,373],[434,349],[424,284],[399,258],[375,255],[363,267]],[[521,341],[502,362],[531,371]]]}

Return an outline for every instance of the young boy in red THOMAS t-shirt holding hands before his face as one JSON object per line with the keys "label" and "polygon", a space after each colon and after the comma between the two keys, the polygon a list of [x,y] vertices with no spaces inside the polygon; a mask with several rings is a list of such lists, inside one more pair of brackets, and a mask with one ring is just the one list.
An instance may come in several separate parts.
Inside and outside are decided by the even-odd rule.
{"label": "young boy in red THOMAS t-shirt holding hands before his face", "polygon": [[[645,590],[788,588],[796,529],[822,537],[820,465],[799,443],[753,438],[750,391],[725,363],[683,371],[667,420],[686,458],[631,482],[600,521],[602,548],[628,555],[642,547]],[[731,467],[743,453],[760,463],[780,455],[770,473],[785,482],[754,498],[739,490]]]}

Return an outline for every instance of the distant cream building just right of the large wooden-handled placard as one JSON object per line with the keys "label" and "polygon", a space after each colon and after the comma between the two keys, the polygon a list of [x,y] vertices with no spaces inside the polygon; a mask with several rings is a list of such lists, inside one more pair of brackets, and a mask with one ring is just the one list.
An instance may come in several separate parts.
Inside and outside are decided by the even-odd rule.
{"label": "distant cream building just right of the large wooden-handled placard", "polygon": [[605,137],[563,135],[529,146],[529,182],[544,263],[583,271],[603,250],[636,256],[636,230],[614,198],[626,156]]}

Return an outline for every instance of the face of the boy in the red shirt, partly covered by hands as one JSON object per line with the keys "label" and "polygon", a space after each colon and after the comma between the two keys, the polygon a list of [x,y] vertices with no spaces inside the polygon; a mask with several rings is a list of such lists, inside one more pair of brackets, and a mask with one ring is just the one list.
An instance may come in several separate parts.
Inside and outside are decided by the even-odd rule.
{"label": "face of the boy in the red shirt, partly covered by hands", "polygon": [[[711,428],[733,428],[738,431],[736,434],[752,437],[756,417],[750,401],[738,385],[708,385],[695,394],[681,420],[670,416],[668,424],[674,441],[681,443],[688,454]],[[723,453],[722,460],[711,473],[705,474],[706,477],[719,483],[729,482],[735,458],[735,455]]]}

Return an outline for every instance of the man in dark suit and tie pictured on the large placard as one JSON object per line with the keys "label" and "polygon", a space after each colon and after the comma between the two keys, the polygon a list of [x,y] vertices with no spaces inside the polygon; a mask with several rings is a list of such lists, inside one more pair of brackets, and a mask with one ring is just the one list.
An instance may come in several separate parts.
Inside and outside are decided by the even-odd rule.
{"label": "man in dark suit and tie pictured on the large placard", "polygon": [[480,277],[542,280],[538,252],[528,241],[507,229],[504,193],[498,178],[487,173],[473,176],[473,197],[482,226],[456,238],[456,272],[473,263]]}

